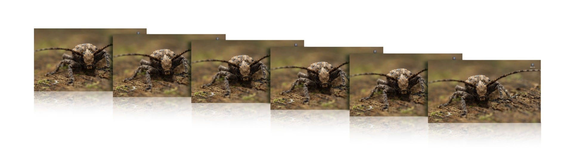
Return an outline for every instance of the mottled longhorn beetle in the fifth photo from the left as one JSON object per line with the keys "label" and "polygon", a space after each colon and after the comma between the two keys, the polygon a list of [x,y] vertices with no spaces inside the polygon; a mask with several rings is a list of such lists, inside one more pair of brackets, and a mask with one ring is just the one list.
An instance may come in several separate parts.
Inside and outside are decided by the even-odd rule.
{"label": "mottled longhorn beetle in the fifth photo from the left", "polygon": [[427,69],[423,69],[421,71],[418,71],[415,74],[412,74],[411,71],[407,70],[407,69],[395,69],[395,70],[391,70],[389,74],[381,74],[381,73],[360,73],[360,74],[353,74],[350,75],[349,77],[356,77],[358,75],[381,75],[381,76],[385,76],[387,78],[387,81],[383,81],[382,79],[378,79],[378,85],[374,87],[373,90],[371,90],[371,93],[368,97],[364,97],[362,99],[360,99],[360,101],[364,101],[367,99],[370,99],[372,96],[374,96],[374,93],[376,93],[378,90],[382,91],[382,96],[383,96],[383,102],[385,104],[385,106],[382,108],[382,110],[386,110],[389,108],[389,102],[387,101],[387,94],[388,93],[397,93],[397,94],[401,94],[401,95],[408,95],[411,92],[409,91],[411,89],[411,87],[417,85],[419,83],[419,85],[421,86],[421,91],[419,91],[420,93],[424,93],[425,92],[425,86],[427,86],[427,82],[425,81],[425,79],[423,79],[423,77],[421,77],[419,74],[423,73],[423,71],[427,71]]}

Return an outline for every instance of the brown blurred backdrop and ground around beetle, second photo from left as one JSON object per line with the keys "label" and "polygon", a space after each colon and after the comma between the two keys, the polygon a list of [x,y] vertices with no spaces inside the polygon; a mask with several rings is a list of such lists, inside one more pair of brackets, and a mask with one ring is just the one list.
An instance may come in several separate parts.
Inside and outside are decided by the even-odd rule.
{"label": "brown blurred backdrop and ground around beetle, second photo from left", "polygon": [[[190,48],[190,41],[197,39],[225,39],[224,34],[148,34],[148,35],[115,35],[113,37],[114,53],[140,53],[150,55],[153,51],[169,49],[175,54]],[[183,54],[188,57],[190,52]],[[114,97],[189,97],[188,79],[174,76],[171,82],[169,78],[152,76],[153,87],[145,91],[146,79],[143,70],[137,73],[137,77],[123,82],[123,79],[131,77],[141,59],[149,61],[149,57],[130,55],[117,57],[113,60],[113,96]],[[190,59],[189,59],[190,62]],[[176,67],[174,74],[182,73],[184,66]],[[130,91],[135,87],[135,90]]]}

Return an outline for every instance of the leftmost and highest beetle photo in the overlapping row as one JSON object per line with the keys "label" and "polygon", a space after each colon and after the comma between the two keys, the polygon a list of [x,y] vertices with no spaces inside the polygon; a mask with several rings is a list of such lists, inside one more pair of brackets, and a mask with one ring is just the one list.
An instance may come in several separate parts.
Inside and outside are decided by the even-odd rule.
{"label": "leftmost and highest beetle photo in the overlapping row", "polygon": [[112,91],[113,35],[147,29],[34,29],[34,91]]}

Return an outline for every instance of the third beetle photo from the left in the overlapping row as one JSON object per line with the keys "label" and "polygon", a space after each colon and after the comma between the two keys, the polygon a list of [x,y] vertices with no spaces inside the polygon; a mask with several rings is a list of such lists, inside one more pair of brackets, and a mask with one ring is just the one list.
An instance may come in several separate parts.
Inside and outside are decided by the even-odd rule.
{"label": "third beetle photo from the left in the overlapping row", "polygon": [[193,103],[269,103],[270,47],[303,40],[192,41]]}

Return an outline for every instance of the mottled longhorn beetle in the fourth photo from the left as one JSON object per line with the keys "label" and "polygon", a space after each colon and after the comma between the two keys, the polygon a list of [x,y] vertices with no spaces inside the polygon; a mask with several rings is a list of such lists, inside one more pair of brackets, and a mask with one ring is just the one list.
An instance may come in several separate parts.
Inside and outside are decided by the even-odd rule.
{"label": "mottled longhorn beetle in the fourth photo from the left", "polygon": [[322,89],[329,89],[330,87],[332,87],[333,79],[336,79],[337,77],[341,77],[341,85],[337,87],[341,86],[345,87],[345,78],[347,78],[347,75],[345,74],[344,70],[340,69],[340,67],[348,63],[349,62],[344,62],[341,63],[341,65],[333,67],[328,62],[316,62],[312,63],[312,65],[310,65],[309,67],[283,66],[283,67],[275,67],[272,68],[271,70],[277,70],[277,69],[307,70],[308,74],[299,72],[298,79],[296,79],[296,81],[292,83],[292,87],[290,87],[289,90],[283,91],[280,94],[284,95],[286,93],[289,93],[294,89],[294,87],[296,87],[298,83],[303,83],[304,96],[306,97],[306,99],[304,99],[304,103],[308,103],[310,99],[310,95],[308,94],[308,87],[318,86],[321,87]]}

